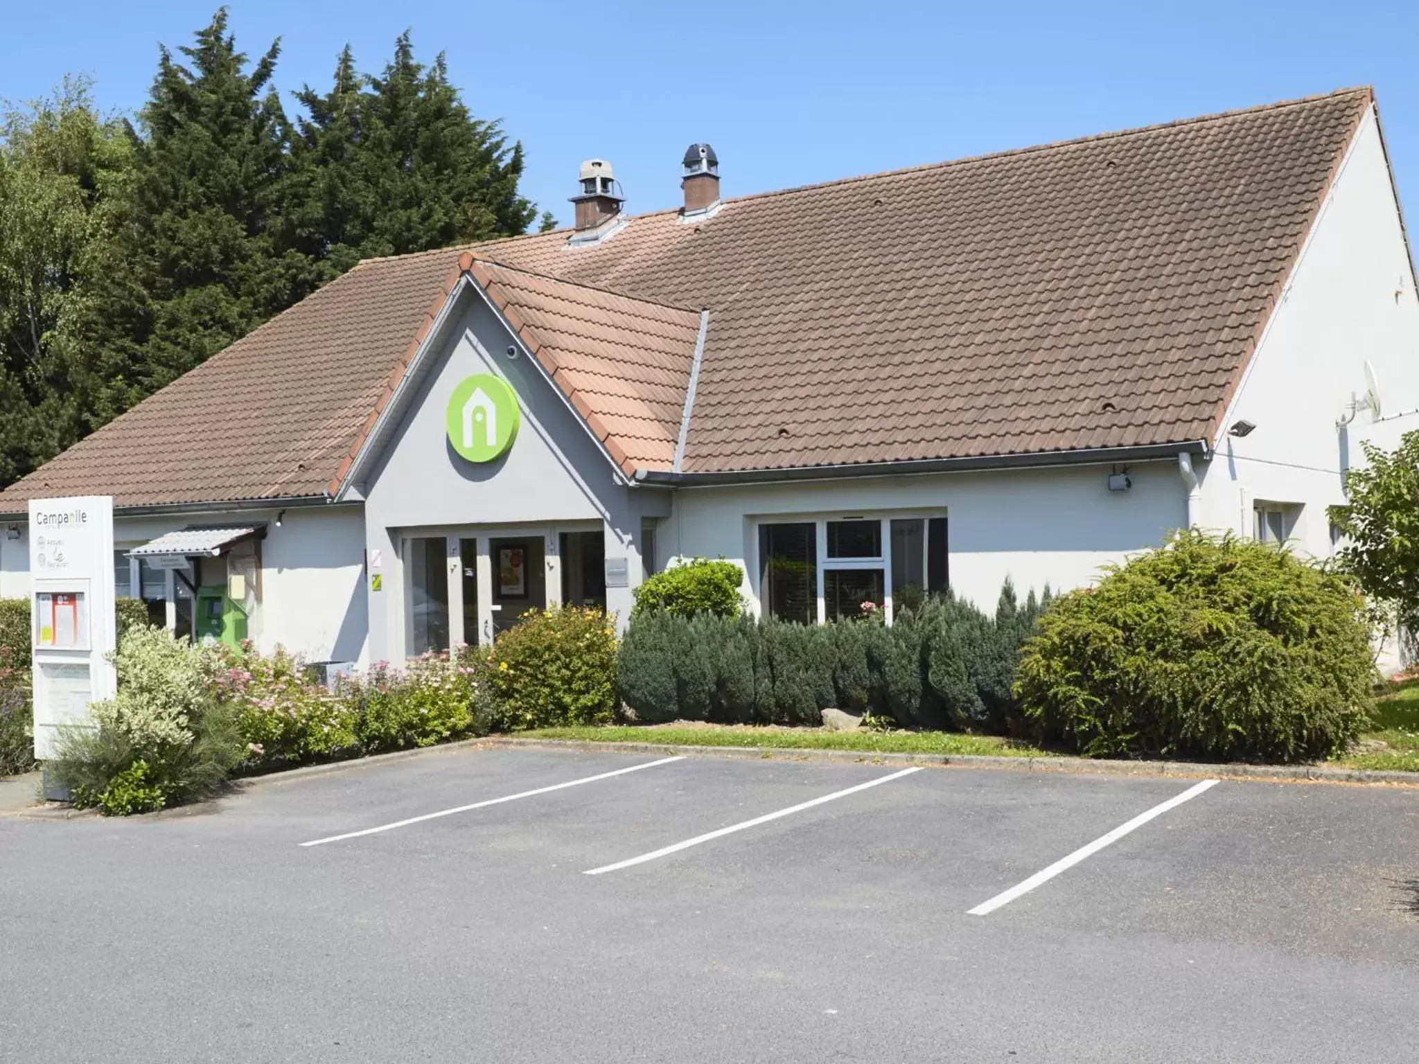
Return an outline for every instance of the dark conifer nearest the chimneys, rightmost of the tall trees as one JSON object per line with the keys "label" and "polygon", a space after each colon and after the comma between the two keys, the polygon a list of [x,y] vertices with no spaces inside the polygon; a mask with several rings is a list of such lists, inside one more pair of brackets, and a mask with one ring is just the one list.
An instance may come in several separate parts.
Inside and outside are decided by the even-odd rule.
{"label": "dark conifer nearest the chimneys, rightmost of the tall trees", "polygon": [[518,194],[522,145],[475,119],[440,52],[414,60],[407,33],[379,77],[362,78],[346,47],[329,94],[297,94],[299,247],[346,270],[370,255],[525,233],[536,207]]}

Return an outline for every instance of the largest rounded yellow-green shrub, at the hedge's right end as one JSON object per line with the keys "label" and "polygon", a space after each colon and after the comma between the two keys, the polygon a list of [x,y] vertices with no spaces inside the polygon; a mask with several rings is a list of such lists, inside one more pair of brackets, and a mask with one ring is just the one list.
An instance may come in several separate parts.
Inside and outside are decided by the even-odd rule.
{"label": "largest rounded yellow-green shrub, at the hedge's right end", "polygon": [[1040,735],[1088,755],[1296,762],[1349,746],[1374,678],[1341,577],[1179,532],[1057,599],[1015,689]]}

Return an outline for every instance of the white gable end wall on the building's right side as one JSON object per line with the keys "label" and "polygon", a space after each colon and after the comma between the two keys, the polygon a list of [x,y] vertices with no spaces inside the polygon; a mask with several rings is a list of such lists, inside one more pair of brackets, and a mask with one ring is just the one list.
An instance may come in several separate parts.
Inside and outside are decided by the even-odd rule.
{"label": "white gable end wall on the building's right side", "polygon": [[1364,363],[1379,377],[1386,411],[1419,407],[1419,301],[1374,111],[1351,143],[1310,240],[1223,420],[1202,478],[1199,525],[1250,535],[1257,501],[1300,505],[1293,546],[1331,553],[1325,508],[1345,501],[1344,470],[1364,461],[1361,440],[1393,447],[1419,416],[1372,424],[1361,410]]}

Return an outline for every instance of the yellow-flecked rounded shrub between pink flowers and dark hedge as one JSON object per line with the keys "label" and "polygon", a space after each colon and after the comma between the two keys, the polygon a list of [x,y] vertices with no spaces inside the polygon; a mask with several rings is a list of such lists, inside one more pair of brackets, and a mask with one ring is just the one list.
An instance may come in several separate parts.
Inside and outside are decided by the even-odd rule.
{"label": "yellow-flecked rounded shrub between pink flowers and dark hedge", "polygon": [[529,610],[494,644],[490,680],[502,728],[610,724],[616,628],[597,609]]}

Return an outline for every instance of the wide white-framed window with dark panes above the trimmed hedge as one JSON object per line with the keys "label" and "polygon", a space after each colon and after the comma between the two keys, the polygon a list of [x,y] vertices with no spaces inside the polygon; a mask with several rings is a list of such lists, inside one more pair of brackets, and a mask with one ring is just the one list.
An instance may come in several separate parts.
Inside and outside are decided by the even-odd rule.
{"label": "wide white-framed window with dark panes above the trimmed hedge", "polygon": [[843,515],[759,525],[759,596],[771,617],[813,621],[915,609],[946,590],[946,518]]}

